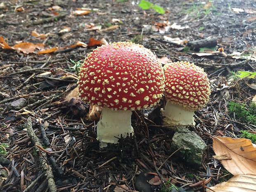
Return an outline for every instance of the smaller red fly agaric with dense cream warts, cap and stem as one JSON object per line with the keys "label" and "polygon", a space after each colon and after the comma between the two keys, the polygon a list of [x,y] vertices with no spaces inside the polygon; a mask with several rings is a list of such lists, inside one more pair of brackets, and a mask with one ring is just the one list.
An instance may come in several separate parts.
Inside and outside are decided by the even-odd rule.
{"label": "smaller red fly agaric with dense cream warts, cap and stem", "polygon": [[169,125],[195,125],[194,111],[204,107],[211,94],[204,69],[190,62],[164,66],[166,107],[164,122]]}

